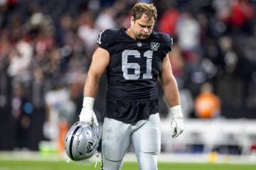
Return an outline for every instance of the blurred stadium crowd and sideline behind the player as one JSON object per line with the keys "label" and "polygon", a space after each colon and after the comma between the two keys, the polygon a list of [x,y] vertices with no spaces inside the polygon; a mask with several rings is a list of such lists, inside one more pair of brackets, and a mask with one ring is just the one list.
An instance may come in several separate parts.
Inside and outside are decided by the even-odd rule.
{"label": "blurred stadium crowd and sideline behind the player", "polygon": [[[136,2],[0,0],[0,169],[18,169],[7,160],[65,160],[63,137],[78,120],[97,35],[128,28]],[[183,135],[171,139],[160,90],[159,161],[256,164],[256,1],[145,2],[158,8],[154,30],[174,38],[170,60],[186,118]],[[103,77],[95,103],[101,122],[105,85]],[[232,167],[225,169],[250,169]]]}

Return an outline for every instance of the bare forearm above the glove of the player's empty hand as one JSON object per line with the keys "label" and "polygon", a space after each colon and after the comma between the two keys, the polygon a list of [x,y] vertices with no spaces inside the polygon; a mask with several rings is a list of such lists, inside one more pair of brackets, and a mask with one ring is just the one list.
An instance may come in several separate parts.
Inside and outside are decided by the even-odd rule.
{"label": "bare forearm above the glove of the player's empty hand", "polygon": [[172,77],[166,84],[164,84],[163,89],[164,96],[166,97],[166,101],[169,104],[169,107],[181,104],[177,82],[174,77]]}

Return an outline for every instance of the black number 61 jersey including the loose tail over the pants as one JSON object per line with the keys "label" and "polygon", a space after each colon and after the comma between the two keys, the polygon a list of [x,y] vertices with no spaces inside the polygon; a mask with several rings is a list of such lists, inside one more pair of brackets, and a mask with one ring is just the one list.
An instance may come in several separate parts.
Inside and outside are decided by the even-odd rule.
{"label": "black number 61 jersey including the loose tail over the pants", "polygon": [[100,33],[97,44],[110,53],[105,117],[135,123],[158,113],[157,79],[171,50],[170,36],[151,33],[147,40],[139,41],[124,28],[109,29]]}

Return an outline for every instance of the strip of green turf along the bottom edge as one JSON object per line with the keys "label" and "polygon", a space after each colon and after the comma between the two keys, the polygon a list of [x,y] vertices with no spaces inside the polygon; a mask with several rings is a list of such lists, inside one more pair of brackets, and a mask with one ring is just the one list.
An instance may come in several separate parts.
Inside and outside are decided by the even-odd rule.
{"label": "strip of green turf along the bottom edge", "polygon": [[[21,162],[1,161],[0,170],[87,170],[95,169],[94,164],[78,164],[66,162]],[[100,164],[97,165],[100,170]],[[139,169],[136,163],[124,162],[122,170]],[[255,170],[256,165],[241,164],[174,164],[159,163],[159,170]]]}

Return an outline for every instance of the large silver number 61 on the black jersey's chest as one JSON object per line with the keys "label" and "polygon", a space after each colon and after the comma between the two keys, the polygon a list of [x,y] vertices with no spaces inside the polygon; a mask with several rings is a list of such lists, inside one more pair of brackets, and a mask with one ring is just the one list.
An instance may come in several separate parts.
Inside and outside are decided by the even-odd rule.
{"label": "large silver number 61 on the black jersey's chest", "polygon": [[[140,77],[140,65],[138,63],[128,62],[128,56],[132,55],[136,58],[140,58],[141,54],[138,50],[124,50],[122,52],[122,72],[124,79],[139,79]],[[144,52],[146,57],[146,73],[143,74],[143,79],[152,79],[152,56],[153,51],[147,50]],[[134,69],[134,74],[128,74],[128,69]]]}

